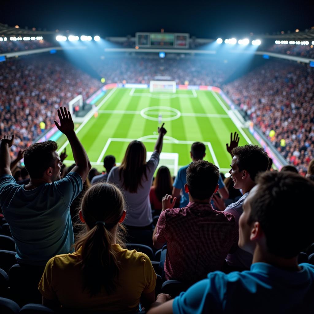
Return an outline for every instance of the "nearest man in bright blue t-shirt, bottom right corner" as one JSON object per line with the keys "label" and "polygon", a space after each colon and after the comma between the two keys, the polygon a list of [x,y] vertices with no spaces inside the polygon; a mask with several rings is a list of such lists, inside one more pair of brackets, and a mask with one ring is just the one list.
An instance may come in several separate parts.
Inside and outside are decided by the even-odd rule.
{"label": "nearest man in bright blue t-shirt, bottom right corner", "polygon": [[293,172],[259,175],[239,220],[238,244],[253,254],[251,269],[209,273],[168,302],[158,295],[148,314],[313,313],[314,266],[298,265],[314,242],[313,195],[313,183]]}

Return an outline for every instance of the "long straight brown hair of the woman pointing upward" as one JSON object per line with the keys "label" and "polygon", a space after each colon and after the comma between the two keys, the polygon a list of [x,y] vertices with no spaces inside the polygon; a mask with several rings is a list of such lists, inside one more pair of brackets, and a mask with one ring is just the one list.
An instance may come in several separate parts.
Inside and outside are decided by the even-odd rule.
{"label": "long straight brown hair of the woman pointing upward", "polygon": [[122,163],[119,167],[120,180],[124,189],[136,193],[138,187],[142,187],[143,175],[146,174],[146,148],[140,141],[132,141],[127,146]]}

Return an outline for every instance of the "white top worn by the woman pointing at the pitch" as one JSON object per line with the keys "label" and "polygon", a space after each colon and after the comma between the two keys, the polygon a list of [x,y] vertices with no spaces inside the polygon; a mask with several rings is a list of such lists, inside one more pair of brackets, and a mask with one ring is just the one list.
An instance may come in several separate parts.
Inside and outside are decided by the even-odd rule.
{"label": "white top worn by the woman pointing at the pitch", "polygon": [[154,151],[146,165],[146,174],[142,177],[142,187],[138,186],[136,193],[131,193],[123,188],[123,180],[120,179],[119,167],[113,167],[109,172],[107,182],[115,183],[124,192],[127,205],[127,216],[124,223],[134,227],[148,226],[153,222],[152,208],[149,201],[149,191],[152,186],[154,172],[159,163],[159,153]]}

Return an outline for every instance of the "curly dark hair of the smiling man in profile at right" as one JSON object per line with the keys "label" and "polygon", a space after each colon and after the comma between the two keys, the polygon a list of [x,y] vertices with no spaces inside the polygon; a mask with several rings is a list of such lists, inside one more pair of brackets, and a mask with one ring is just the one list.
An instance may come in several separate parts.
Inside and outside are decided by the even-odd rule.
{"label": "curly dark hair of the smiling man in profile at right", "polygon": [[232,149],[232,155],[237,157],[239,171],[246,170],[254,181],[257,173],[266,171],[269,165],[268,154],[257,145],[245,145]]}

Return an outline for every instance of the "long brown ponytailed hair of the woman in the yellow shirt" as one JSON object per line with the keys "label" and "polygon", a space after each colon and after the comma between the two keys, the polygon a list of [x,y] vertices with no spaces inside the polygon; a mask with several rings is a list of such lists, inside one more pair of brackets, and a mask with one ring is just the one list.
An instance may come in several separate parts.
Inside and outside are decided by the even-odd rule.
{"label": "long brown ponytailed hair of the woman in the yellow shirt", "polygon": [[78,265],[83,273],[84,290],[87,289],[92,296],[105,287],[110,294],[115,291],[120,269],[117,252],[112,248],[112,232],[116,225],[116,243],[124,246],[121,231],[125,232],[125,229],[119,223],[124,210],[122,192],[113,184],[97,183],[85,193],[81,209],[90,229],[85,230],[75,244],[76,252],[82,247]]}

